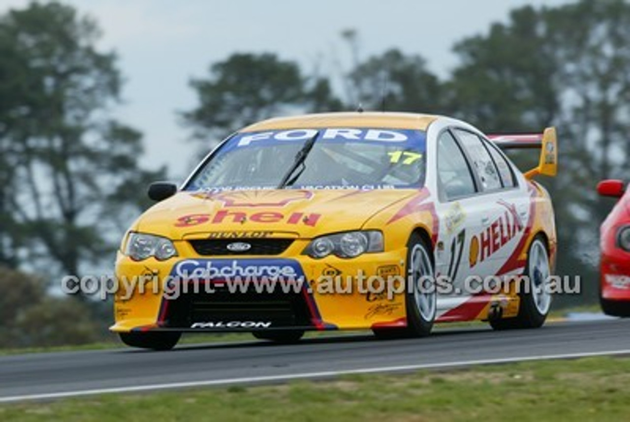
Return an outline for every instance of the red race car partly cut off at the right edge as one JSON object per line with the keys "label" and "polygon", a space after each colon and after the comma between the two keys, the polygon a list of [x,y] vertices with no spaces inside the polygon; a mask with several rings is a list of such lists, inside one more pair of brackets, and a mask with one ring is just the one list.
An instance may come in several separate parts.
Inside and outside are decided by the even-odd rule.
{"label": "red race car partly cut off at the right edge", "polygon": [[630,317],[630,189],[621,180],[604,180],[597,192],[620,198],[600,229],[600,304],[605,314]]}

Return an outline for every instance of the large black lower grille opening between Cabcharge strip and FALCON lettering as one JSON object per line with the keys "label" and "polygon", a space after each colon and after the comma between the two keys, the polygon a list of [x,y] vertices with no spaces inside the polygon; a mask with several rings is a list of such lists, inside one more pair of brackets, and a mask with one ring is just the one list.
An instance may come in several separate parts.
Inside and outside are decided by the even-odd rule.
{"label": "large black lower grille opening between Cabcharge strip and FALCON lettering", "polygon": [[165,318],[167,328],[190,328],[205,321],[269,321],[273,327],[311,326],[302,294],[284,292],[214,293],[188,292],[171,300]]}

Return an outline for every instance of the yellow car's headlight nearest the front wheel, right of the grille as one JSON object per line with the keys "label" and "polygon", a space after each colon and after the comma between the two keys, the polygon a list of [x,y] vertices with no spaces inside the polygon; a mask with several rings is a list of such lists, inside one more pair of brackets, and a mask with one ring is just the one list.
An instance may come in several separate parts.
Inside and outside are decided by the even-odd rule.
{"label": "yellow car's headlight nearest the front wheel, right of the grille", "polygon": [[383,251],[383,234],[379,231],[355,231],[329,234],[313,239],[303,254],[311,258],[324,258],[335,254],[340,258],[354,258],[368,252]]}

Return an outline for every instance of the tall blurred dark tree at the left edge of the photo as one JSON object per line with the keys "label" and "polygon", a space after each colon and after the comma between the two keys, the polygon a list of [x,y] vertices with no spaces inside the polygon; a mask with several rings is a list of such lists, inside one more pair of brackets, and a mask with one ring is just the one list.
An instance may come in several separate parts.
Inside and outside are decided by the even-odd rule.
{"label": "tall blurred dark tree at the left edge of the photo", "polygon": [[112,259],[119,233],[108,237],[108,227],[137,205],[139,183],[163,173],[139,168],[139,132],[110,118],[121,78],[99,37],[94,21],[55,2],[0,17],[0,259],[9,265],[19,256],[49,275],[77,274]]}

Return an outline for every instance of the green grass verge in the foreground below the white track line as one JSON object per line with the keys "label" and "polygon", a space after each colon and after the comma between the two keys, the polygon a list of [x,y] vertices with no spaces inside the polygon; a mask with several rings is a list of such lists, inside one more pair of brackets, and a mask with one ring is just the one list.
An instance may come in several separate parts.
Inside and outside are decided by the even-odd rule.
{"label": "green grass verge in the foreground below the white track line", "polygon": [[630,358],[588,358],[5,404],[0,420],[618,421],[628,385]]}

